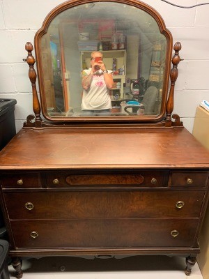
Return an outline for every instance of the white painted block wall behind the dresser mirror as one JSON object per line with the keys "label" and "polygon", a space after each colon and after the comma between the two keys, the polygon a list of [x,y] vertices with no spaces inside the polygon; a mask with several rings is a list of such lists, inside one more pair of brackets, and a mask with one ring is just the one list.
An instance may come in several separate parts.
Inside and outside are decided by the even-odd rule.
{"label": "white painted block wall behind the dresser mirror", "polygon": [[[170,0],[181,6],[206,3],[208,0]],[[0,0],[0,98],[15,98],[17,131],[28,114],[33,114],[31,84],[24,45],[33,43],[47,13],[63,0]],[[173,34],[173,43],[180,41],[182,50],[176,82],[174,113],[180,115],[192,133],[196,107],[209,100],[209,5],[192,9],[170,6],[160,0],[144,0],[164,18]],[[34,54],[34,52],[33,52]]]}

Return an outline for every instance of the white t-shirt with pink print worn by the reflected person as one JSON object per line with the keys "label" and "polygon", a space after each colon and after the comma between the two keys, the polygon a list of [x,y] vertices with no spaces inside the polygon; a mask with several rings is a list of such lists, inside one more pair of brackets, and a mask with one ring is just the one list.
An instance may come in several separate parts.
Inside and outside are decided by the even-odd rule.
{"label": "white t-shirt with pink print worn by the reflected person", "polygon": [[[89,75],[91,68],[84,70]],[[107,73],[112,73],[108,70]],[[82,110],[107,110],[111,109],[109,89],[104,82],[104,75],[93,75],[90,89],[83,91]]]}

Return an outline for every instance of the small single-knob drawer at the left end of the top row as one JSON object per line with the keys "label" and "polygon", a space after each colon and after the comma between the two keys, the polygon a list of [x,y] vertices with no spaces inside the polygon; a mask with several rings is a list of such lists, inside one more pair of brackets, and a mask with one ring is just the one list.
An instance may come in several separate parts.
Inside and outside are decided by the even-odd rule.
{"label": "small single-knob drawer at the left end of the top row", "polygon": [[39,172],[2,174],[2,188],[41,188]]}

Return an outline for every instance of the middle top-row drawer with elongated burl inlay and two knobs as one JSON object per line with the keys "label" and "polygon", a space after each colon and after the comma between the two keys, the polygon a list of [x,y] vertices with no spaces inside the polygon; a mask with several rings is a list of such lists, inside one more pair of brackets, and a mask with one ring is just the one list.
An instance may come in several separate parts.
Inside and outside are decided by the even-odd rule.
{"label": "middle top-row drawer with elongated burl inlay and two knobs", "polygon": [[47,173],[47,187],[75,186],[150,186],[163,187],[168,183],[168,172],[140,171],[127,173],[69,174],[69,172]]}

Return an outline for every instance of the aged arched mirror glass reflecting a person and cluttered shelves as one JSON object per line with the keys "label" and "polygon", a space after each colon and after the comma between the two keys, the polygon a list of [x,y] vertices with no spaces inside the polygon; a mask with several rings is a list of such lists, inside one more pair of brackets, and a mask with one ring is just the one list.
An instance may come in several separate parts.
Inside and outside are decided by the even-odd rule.
{"label": "aged arched mirror glass reflecting a person and cluttered shelves", "polygon": [[167,38],[144,10],[114,2],[68,8],[40,39],[47,115],[157,116],[166,56]]}

